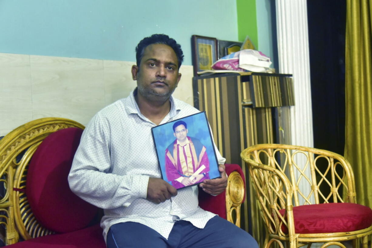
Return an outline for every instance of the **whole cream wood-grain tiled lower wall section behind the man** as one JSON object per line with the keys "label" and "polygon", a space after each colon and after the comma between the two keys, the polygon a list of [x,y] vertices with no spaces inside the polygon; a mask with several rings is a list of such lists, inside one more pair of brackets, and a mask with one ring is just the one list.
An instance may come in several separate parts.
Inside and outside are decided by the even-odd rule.
{"label": "whole cream wood-grain tiled lower wall section behind the man", "polygon": [[[131,61],[0,53],[0,136],[42,117],[86,125],[104,106],[128,96]],[[193,105],[192,66],[181,66],[174,96]]]}

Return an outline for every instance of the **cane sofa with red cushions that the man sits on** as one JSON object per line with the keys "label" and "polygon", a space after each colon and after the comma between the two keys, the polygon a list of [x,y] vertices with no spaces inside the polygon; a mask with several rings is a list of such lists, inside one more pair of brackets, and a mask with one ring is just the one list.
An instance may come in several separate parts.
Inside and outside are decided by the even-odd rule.
{"label": "cane sofa with red cushions that the man sits on", "polygon": [[[99,226],[102,213],[90,204],[84,205],[88,203],[68,188],[67,174],[83,129],[83,125],[73,120],[41,118],[21,125],[0,140],[0,228],[6,231],[6,244],[10,247],[106,247]],[[35,163],[37,166],[44,163],[46,168],[39,169]],[[52,164],[54,167],[50,169]],[[36,167],[39,171],[35,171]],[[232,164],[226,165],[226,172],[228,186],[225,194],[214,197],[199,191],[199,206],[239,226],[240,205],[245,191],[243,171]],[[31,204],[31,198],[35,198],[30,192],[32,184],[43,180],[49,184],[47,187],[43,184],[42,192],[36,195],[39,202]],[[61,191],[60,188],[64,189]],[[52,202],[40,202],[45,197],[60,198],[57,204],[54,202],[50,213],[37,209],[40,204],[50,209]],[[79,218],[83,220],[76,223]],[[54,219],[62,221],[51,223]]]}

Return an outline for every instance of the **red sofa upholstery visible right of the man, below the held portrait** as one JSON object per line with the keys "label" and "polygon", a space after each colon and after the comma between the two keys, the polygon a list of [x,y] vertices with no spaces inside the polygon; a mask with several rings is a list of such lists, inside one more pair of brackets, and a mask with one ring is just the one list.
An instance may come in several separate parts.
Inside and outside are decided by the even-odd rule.
{"label": "red sofa upholstery visible right of the man, below the held portrait", "polygon": [[[239,165],[235,164],[225,164],[225,171],[227,175],[230,175],[231,172],[239,172],[241,178],[243,178],[244,187],[246,185],[243,170]],[[245,190],[245,188],[244,188]],[[243,202],[245,200],[245,194]],[[199,206],[209,212],[218,214],[219,217],[226,219],[226,191],[222,192],[219,195],[213,196],[208,193],[205,193],[201,188],[199,188]]]}

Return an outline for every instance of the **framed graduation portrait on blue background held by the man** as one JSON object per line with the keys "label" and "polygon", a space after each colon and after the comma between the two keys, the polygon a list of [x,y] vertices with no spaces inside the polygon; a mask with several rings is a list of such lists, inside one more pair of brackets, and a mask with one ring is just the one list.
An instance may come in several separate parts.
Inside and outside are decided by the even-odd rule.
{"label": "framed graduation portrait on blue background held by the man", "polygon": [[180,189],[221,177],[205,112],[158,125],[152,133],[164,181]]}

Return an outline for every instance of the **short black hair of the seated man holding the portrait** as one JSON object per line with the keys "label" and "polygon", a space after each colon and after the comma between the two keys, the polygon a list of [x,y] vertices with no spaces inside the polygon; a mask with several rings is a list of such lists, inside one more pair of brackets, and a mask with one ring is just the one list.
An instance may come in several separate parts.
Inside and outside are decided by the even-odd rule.
{"label": "short black hair of the seated man holding the portrait", "polygon": [[150,37],[142,39],[142,41],[138,43],[136,47],[136,60],[138,67],[140,67],[141,59],[145,53],[145,48],[151,44],[169,45],[173,49],[174,53],[176,53],[178,60],[178,69],[180,69],[183,61],[183,52],[181,49],[181,45],[177,44],[177,42],[174,39],[169,38],[168,35],[164,34],[153,34]]}

